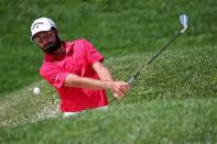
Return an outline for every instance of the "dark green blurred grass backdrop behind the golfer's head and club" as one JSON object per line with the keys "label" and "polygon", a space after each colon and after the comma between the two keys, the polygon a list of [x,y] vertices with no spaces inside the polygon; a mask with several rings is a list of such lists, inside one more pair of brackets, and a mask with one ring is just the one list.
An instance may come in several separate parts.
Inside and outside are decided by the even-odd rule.
{"label": "dark green blurred grass backdrop behind the golfer's head and club", "polygon": [[110,58],[160,48],[178,30],[181,13],[191,16],[191,29],[177,45],[216,44],[216,4],[215,0],[1,0],[0,95],[40,79],[43,53],[30,41],[36,18],[52,18],[62,38],[85,37]]}

